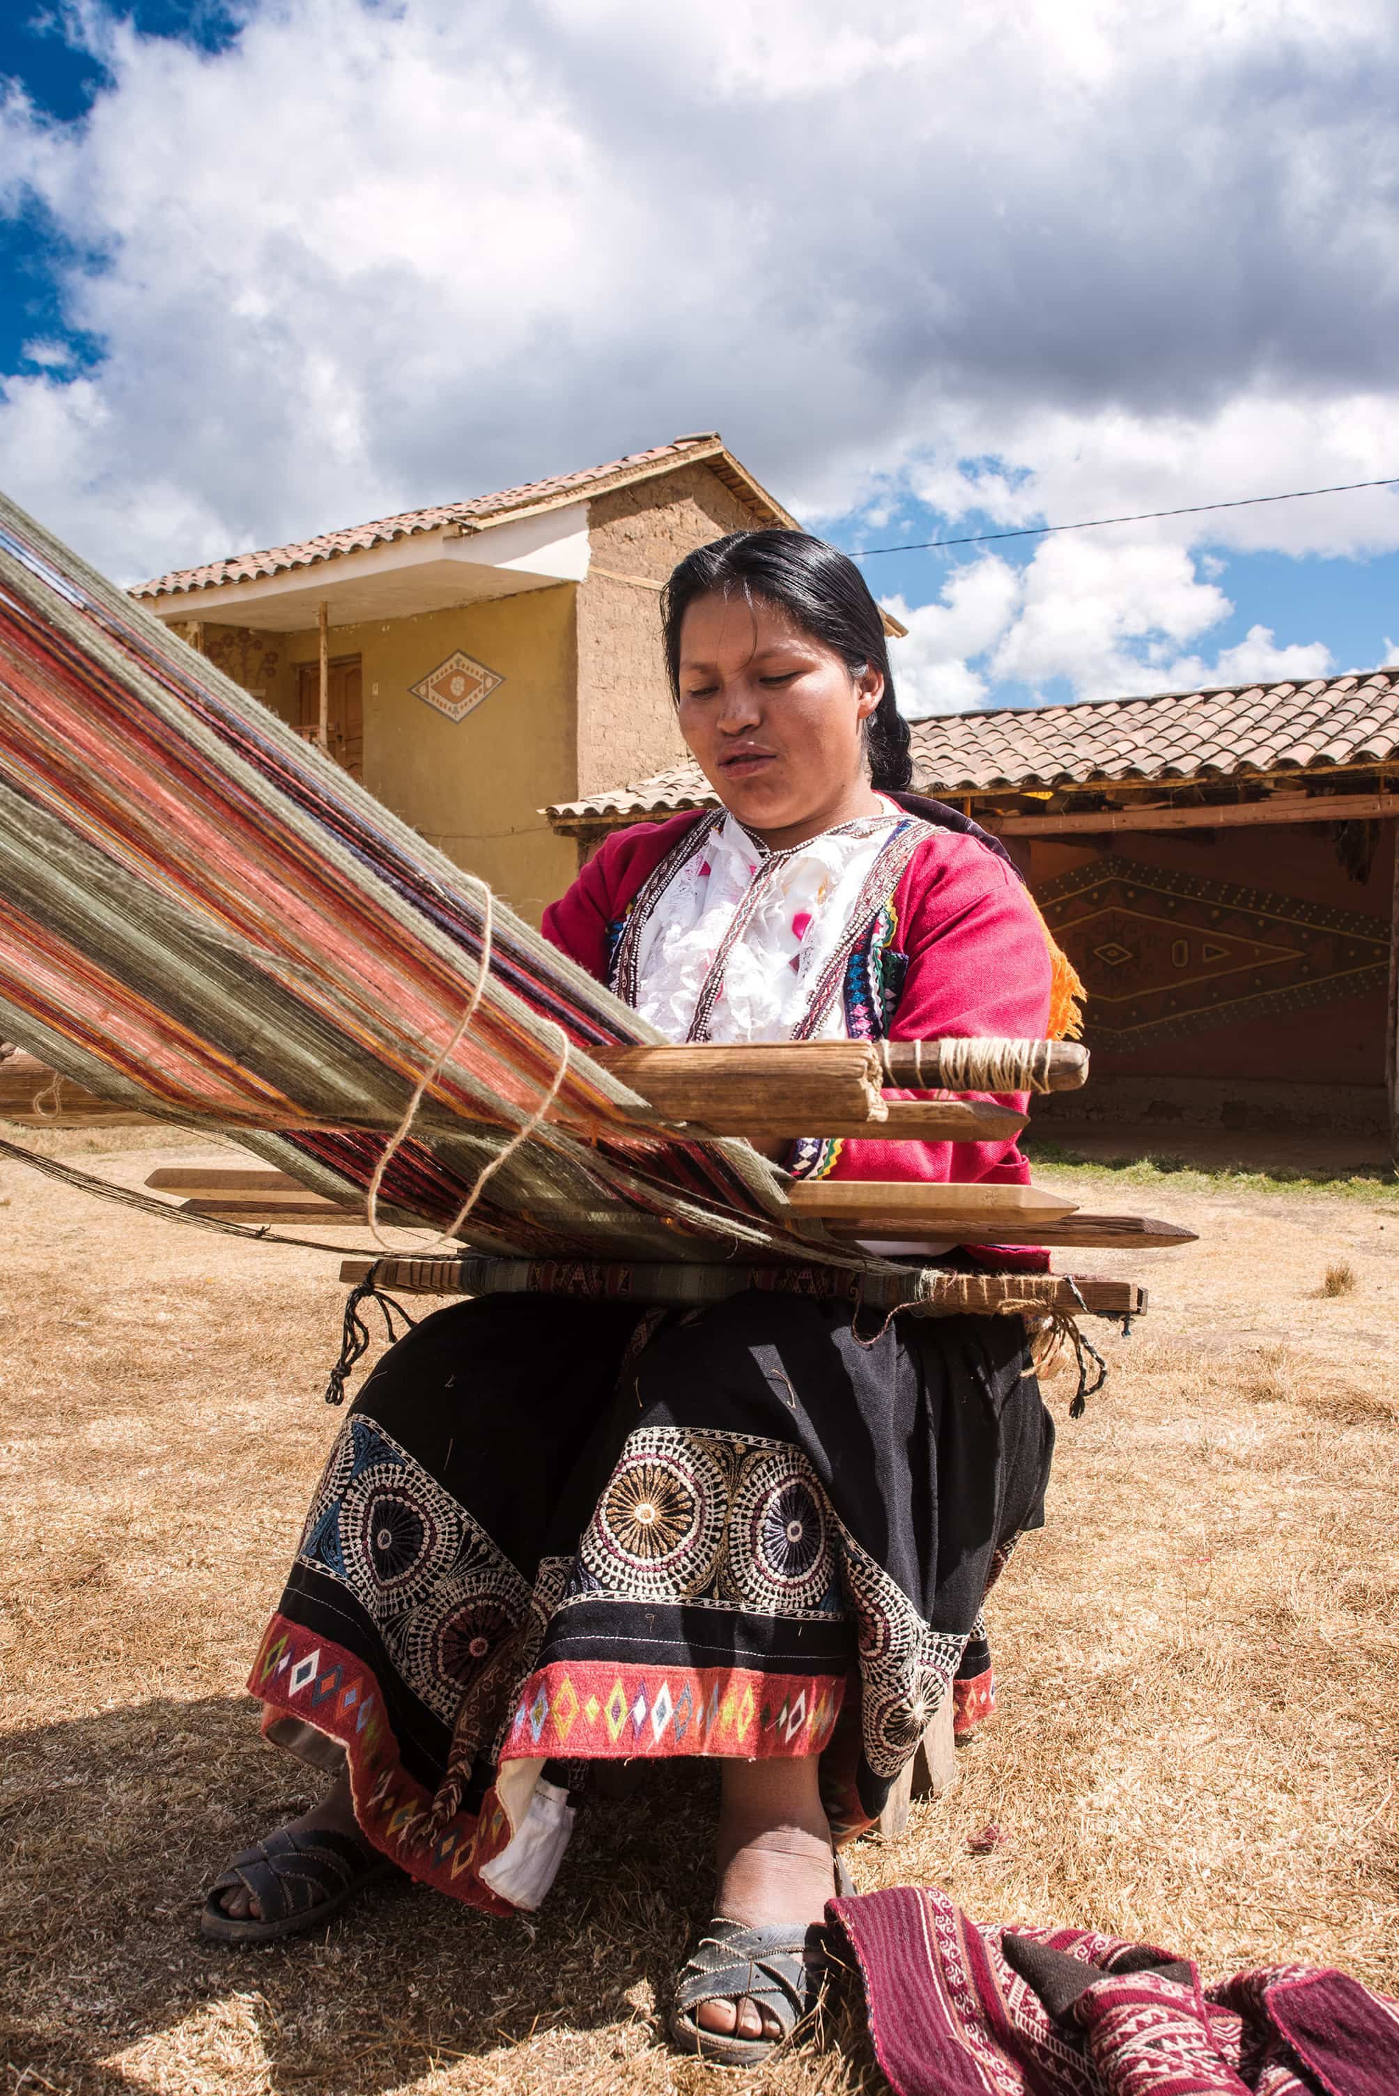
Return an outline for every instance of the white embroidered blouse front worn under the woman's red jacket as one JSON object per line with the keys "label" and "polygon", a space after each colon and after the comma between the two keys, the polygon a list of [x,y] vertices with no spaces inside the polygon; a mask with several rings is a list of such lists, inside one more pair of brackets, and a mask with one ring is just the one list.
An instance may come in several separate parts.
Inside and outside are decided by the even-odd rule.
{"label": "white embroidered blouse front worn under the woman's red jacket", "polygon": [[[905,820],[888,813],[825,830],[790,851],[769,851],[725,815],[702,851],[676,870],[637,943],[637,1010],[683,1042],[702,996],[712,1042],[792,1040],[880,851]],[[720,954],[727,935],[737,937]],[[720,970],[716,977],[716,962]],[[817,1040],[844,1040],[844,1000],[817,1023]]]}

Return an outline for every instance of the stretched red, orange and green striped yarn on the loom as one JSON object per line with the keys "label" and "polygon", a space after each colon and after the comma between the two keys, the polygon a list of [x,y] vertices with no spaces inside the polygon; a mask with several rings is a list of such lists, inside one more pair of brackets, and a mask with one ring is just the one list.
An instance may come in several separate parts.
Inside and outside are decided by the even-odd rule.
{"label": "stretched red, orange and green striped yarn on the loom", "polygon": [[660,1035],[498,901],[484,970],[484,916],[480,882],[0,499],[4,1040],[339,1201],[440,1058],[383,1172],[396,1222],[448,1224],[545,1107],[482,1184],[482,1251],[865,1264],[798,1245],[748,1144],[628,1140],[647,1109],[589,1048]]}

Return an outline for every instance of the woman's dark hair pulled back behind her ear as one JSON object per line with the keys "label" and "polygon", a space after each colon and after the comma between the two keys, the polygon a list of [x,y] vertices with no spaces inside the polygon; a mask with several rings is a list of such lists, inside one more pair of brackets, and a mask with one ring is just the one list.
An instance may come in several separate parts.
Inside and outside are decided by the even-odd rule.
{"label": "woman's dark hair pulled back behind her ear", "polygon": [[735,530],[695,547],[674,568],[660,599],[670,692],[681,696],[681,627],[695,597],[710,593],[762,597],[779,606],[802,633],[825,641],[852,677],[878,669],[884,698],[865,721],[869,782],[882,792],[903,792],[913,778],[909,723],[894,698],[884,616],[865,576],[825,539],[802,530]]}

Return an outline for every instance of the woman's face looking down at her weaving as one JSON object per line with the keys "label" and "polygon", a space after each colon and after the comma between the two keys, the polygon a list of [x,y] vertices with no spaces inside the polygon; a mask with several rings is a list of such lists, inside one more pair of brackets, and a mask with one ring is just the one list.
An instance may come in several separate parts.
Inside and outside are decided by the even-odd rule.
{"label": "woman's face looking down at her weaving", "polygon": [[884,677],[842,658],[764,597],[695,597],[681,627],[681,734],[746,830],[802,845],[878,799],[863,725]]}

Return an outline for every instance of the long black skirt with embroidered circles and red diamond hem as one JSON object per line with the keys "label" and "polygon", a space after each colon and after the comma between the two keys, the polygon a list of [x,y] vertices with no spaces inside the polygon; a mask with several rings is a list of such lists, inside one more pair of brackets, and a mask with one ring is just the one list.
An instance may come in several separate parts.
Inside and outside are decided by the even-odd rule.
{"label": "long black skirt with embroidered circles and red diamond hem", "polygon": [[364,1381],[249,1687],[369,1840],[486,1907],[542,1897],[570,1763],[819,1754],[848,1834],[953,1685],[989,1706],[980,1610],[1051,1448],[1016,1316],[465,1302]]}

